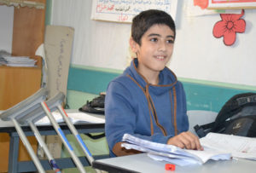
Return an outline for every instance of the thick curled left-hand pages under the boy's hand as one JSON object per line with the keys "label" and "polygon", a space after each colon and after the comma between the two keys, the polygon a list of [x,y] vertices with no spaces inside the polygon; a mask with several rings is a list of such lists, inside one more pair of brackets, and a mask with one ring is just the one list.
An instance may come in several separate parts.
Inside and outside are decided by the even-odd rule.
{"label": "thick curled left-hand pages under the boy's hand", "polygon": [[126,149],[135,149],[144,153],[152,159],[165,160],[178,165],[188,164],[204,164],[209,159],[227,160],[231,158],[231,154],[204,147],[204,151],[186,150],[172,145],[146,141],[129,134],[123,136],[121,146]]}

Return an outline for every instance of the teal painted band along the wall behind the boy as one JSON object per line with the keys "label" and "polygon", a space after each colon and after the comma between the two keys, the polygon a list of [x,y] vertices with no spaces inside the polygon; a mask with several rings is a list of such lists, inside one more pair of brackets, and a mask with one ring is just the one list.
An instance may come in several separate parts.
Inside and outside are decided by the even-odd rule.
{"label": "teal painted band along the wall behind the boy", "polygon": [[[121,72],[109,69],[71,66],[67,89],[98,95],[106,91],[108,83]],[[233,95],[256,92],[256,87],[237,84],[220,84],[209,81],[179,78],[187,96],[188,110],[206,110],[218,112]],[[226,86],[225,86],[226,85]],[[85,98],[86,99],[86,98]]]}

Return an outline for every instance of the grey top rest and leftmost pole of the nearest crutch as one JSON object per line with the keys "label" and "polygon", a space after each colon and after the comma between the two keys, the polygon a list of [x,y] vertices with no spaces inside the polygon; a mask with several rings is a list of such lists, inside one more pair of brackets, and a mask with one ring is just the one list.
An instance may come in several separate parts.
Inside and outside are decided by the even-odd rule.
{"label": "grey top rest and leftmost pole of the nearest crutch", "polygon": [[46,99],[46,95],[47,95],[46,89],[39,89],[35,94],[26,98],[26,100],[21,101],[20,103],[16,104],[14,107],[10,107],[5,112],[1,113],[1,119],[3,121],[12,121],[15,124],[15,129],[17,130],[21,141],[24,143],[27,152],[31,156],[33,163],[35,164],[36,168],[40,173],[45,172],[44,168],[40,163],[37,155],[34,153],[32,146],[27,140],[26,135],[24,134],[24,131],[21,129],[17,119],[22,118],[29,112],[32,112],[37,107],[40,107],[40,103]]}

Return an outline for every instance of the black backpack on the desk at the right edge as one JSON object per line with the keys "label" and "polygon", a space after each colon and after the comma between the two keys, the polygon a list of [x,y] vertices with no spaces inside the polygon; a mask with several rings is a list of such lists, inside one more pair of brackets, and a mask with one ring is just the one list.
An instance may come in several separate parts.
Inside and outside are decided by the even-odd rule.
{"label": "black backpack on the desk at the right edge", "polygon": [[227,101],[214,122],[195,125],[199,137],[209,132],[256,137],[256,93],[234,95]]}

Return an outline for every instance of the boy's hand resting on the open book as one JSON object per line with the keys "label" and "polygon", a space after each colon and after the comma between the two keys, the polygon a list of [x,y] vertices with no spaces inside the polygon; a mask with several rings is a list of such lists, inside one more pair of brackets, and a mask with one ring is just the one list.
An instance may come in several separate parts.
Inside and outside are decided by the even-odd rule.
{"label": "boy's hand resting on the open book", "polygon": [[171,137],[167,144],[186,149],[203,150],[199,138],[189,131]]}

